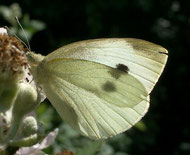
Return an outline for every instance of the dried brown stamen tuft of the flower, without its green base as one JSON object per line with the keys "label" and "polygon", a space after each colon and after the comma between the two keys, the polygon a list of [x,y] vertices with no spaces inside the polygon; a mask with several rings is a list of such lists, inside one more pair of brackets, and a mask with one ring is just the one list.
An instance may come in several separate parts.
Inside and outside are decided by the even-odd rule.
{"label": "dried brown stamen tuft of the flower, without its green base", "polygon": [[6,30],[0,29],[0,80],[13,80],[23,76],[27,68],[26,49],[15,37],[9,36]]}

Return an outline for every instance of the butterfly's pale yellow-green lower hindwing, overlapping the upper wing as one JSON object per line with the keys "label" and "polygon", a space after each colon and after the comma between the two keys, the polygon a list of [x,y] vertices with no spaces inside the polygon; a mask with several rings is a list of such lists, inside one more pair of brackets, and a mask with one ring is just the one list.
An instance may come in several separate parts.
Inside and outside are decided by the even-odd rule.
{"label": "butterfly's pale yellow-green lower hindwing, overlapping the upper wing", "polygon": [[37,75],[62,119],[92,139],[126,131],[149,106],[147,91],[133,75],[96,62],[44,60]]}

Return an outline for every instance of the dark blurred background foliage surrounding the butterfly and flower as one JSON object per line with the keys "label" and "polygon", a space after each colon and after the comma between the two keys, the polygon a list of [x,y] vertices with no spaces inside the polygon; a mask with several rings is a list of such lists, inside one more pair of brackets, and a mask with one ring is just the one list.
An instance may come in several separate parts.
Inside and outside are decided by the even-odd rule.
{"label": "dark blurred background foliage surrounding the butterfly and flower", "polygon": [[93,38],[140,38],[169,51],[164,73],[151,93],[148,113],[135,127],[106,141],[84,138],[64,124],[48,100],[37,114],[47,133],[58,127],[48,154],[190,154],[189,0],[1,0],[0,27],[8,26],[32,51],[48,54],[71,42]]}

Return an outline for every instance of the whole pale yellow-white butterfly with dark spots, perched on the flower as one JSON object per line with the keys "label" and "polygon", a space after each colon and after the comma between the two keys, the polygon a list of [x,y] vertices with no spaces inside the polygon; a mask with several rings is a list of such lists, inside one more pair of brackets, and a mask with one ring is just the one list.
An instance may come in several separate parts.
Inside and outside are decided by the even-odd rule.
{"label": "whole pale yellow-white butterfly with dark spots, perched on the flower", "polygon": [[27,54],[35,83],[61,118],[91,139],[122,133],[147,112],[168,52],[132,38],[92,39]]}

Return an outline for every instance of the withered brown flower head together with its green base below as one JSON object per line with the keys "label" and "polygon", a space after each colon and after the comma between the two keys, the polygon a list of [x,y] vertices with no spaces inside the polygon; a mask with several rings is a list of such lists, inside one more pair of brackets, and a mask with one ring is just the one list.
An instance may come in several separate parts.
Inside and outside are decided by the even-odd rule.
{"label": "withered brown flower head together with its green base below", "polygon": [[19,90],[18,83],[24,78],[27,67],[22,43],[17,38],[9,36],[6,29],[0,28],[0,113],[2,115],[10,114]]}

